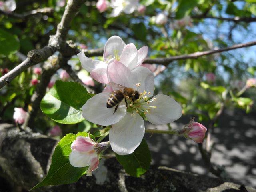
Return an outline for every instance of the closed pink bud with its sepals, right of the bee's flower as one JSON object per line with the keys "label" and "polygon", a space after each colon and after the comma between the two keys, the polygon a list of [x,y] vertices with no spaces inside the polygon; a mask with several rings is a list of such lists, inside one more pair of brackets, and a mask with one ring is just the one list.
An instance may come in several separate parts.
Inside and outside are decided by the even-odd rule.
{"label": "closed pink bud with its sepals, right of the bee's flower", "polygon": [[206,131],[207,129],[205,126],[192,120],[192,122],[187,124],[184,129],[180,131],[180,134],[186,138],[194,140],[194,142],[202,143]]}

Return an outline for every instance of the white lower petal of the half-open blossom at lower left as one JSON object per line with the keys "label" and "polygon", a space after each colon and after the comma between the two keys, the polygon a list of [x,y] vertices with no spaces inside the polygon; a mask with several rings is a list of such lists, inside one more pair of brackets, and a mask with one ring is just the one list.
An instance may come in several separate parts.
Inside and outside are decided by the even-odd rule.
{"label": "white lower petal of the half-open blossom at lower left", "polygon": [[76,150],[72,150],[69,155],[70,164],[74,167],[86,167],[90,165],[90,160],[97,156],[96,153],[81,153]]}

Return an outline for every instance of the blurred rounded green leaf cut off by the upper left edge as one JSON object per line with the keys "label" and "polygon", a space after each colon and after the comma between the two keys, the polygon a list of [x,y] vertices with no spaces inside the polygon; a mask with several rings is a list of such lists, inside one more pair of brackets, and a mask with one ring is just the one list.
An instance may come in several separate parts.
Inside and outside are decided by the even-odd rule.
{"label": "blurred rounded green leaf cut off by the upper left edge", "polygon": [[14,35],[0,29],[0,55],[15,53],[20,48],[20,44]]}

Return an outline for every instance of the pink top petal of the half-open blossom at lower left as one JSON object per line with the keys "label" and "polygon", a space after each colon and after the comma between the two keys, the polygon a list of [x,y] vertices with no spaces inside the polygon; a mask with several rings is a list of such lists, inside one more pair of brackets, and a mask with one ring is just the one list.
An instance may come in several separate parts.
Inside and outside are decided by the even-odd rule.
{"label": "pink top petal of the half-open blossom at lower left", "polygon": [[87,152],[94,150],[94,144],[89,137],[77,136],[76,140],[71,144],[71,149],[79,152]]}

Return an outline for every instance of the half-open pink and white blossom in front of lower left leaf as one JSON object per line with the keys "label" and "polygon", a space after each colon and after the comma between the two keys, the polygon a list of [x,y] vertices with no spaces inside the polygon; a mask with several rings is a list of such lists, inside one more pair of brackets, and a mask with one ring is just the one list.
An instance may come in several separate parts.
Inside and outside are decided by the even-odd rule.
{"label": "half-open pink and white blossom in front of lower left leaf", "polygon": [[74,167],[86,167],[87,176],[92,176],[92,171],[99,165],[100,154],[108,148],[108,142],[97,143],[89,136],[77,136],[71,144],[72,152],[69,155],[70,164]]}

